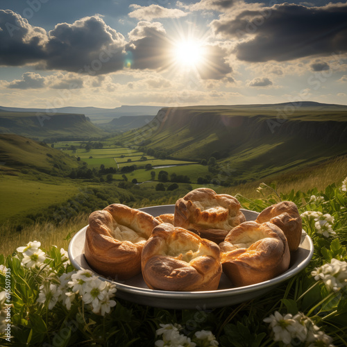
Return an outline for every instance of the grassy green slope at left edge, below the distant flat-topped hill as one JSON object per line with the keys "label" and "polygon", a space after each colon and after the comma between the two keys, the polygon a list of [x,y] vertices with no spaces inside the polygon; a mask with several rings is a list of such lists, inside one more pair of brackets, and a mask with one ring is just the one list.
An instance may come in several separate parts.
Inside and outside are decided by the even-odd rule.
{"label": "grassy green slope at left edge, below the distant flat-topped hill", "polygon": [[76,158],[43,142],[14,134],[0,134],[0,162],[0,171],[35,169],[58,173],[78,167]]}

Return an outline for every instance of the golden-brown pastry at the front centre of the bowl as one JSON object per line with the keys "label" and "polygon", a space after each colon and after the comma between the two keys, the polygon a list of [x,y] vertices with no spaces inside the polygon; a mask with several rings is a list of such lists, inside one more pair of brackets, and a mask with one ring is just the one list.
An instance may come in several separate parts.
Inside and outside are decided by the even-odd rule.
{"label": "golden-brown pastry at the front centre of the bowl", "polygon": [[210,291],[221,272],[217,244],[169,223],[153,229],[142,251],[142,276],[151,289]]}

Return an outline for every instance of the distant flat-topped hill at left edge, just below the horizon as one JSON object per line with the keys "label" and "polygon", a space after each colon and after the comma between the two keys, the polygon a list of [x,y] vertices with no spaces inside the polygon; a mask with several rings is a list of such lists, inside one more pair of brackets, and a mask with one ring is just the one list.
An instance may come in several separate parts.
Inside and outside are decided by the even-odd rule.
{"label": "distant flat-topped hill at left edge, just below the horizon", "polygon": [[12,133],[52,142],[99,138],[106,133],[85,115],[43,112],[0,112],[0,133]]}

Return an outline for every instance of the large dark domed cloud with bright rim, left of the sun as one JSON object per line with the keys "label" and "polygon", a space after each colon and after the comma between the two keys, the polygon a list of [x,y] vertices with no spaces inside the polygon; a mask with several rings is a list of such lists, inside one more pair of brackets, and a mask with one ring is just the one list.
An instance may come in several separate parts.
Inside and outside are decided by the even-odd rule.
{"label": "large dark domed cloud with bright rim, left of the sun", "polygon": [[105,74],[124,67],[124,36],[100,17],[58,24],[49,32],[46,69]]}

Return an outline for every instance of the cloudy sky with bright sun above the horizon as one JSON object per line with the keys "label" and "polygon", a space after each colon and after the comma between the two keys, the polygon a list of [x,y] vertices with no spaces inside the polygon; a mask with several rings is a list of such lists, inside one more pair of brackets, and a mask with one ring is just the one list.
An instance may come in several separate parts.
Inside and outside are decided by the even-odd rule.
{"label": "cloudy sky with bright sun above the horizon", "polygon": [[0,0],[3,107],[346,96],[346,1]]}

